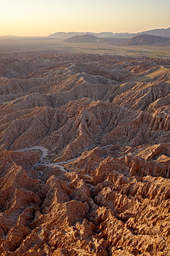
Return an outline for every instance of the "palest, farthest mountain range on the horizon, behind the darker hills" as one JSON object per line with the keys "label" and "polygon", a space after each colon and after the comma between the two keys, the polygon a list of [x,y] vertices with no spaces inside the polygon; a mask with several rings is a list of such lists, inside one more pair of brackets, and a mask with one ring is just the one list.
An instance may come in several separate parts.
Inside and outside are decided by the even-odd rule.
{"label": "palest, farthest mountain range on the horizon, behind the darker hills", "polygon": [[143,31],[141,33],[112,33],[112,32],[101,32],[101,33],[92,33],[92,32],[86,32],[86,33],[80,33],[80,32],[57,32],[52,35],[49,35],[48,37],[56,37],[61,39],[67,39],[69,37],[74,36],[81,36],[81,35],[94,35],[96,37],[111,37],[111,38],[131,38],[135,37],[136,35],[157,35],[160,37],[170,37],[170,27],[169,28],[160,28],[160,29],[153,29],[153,30],[147,30]]}

